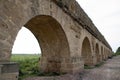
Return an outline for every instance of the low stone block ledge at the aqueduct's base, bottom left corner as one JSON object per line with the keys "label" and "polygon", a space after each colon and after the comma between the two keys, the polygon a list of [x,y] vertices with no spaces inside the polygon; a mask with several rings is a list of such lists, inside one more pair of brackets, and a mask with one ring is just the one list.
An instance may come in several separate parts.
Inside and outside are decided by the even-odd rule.
{"label": "low stone block ledge at the aqueduct's base, bottom left corner", "polygon": [[0,80],[18,80],[18,75],[18,63],[0,62]]}

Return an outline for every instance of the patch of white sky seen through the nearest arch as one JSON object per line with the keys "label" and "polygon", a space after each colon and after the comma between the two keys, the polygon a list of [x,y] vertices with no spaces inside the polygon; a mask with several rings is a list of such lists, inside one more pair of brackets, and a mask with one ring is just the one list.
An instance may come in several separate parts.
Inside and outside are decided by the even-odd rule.
{"label": "patch of white sky seen through the nearest arch", "polygon": [[41,48],[36,37],[24,26],[17,34],[12,54],[41,54]]}

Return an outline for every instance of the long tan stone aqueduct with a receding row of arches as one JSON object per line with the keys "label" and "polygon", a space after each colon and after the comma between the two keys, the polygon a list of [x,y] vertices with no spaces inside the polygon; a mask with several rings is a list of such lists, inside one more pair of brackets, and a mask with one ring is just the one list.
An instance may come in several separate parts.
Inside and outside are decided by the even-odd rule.
{"label": "long tan stone aqueduct with a receding row of arches", "polygon": [[78,72],[112,54],[104,36],[75,0],[0,0],[0,66],[10,64],[22,26],[40,43],[43,72]]}

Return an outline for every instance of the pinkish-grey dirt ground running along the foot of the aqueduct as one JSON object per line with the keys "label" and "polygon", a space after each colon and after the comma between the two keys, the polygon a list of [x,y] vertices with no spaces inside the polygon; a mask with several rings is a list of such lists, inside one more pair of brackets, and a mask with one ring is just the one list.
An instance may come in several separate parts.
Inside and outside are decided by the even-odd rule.
{"label": "pinkish-grey dirt ground running along the foot of the aqueduct", "polygon": [[86,69],[83,73],[58,77],[34,77],[25,80],[120,80],[120,56],[107,60],[101,67]]}

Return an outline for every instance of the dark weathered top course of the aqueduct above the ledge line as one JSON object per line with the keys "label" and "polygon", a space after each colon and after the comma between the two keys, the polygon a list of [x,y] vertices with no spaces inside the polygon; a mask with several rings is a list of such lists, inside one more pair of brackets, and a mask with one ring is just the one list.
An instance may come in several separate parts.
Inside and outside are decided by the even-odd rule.
{"label": "dark weathered top course of the aqueduct above the ledge line", "polygon": [[53,1],[59,7],[61,7],[65,13],[69,14],[75,21],[82,25],[82,27],[84,27],[94,37],[96,37],[98,40],[100,40],[103,44],[105,44],[108,48],[112,50],[111,46],[108,44],[104,36],[96,28],[92,20],[88,17],[88,15],[84,12],[84,10],[80,7],[76,0],[53,0]]}

